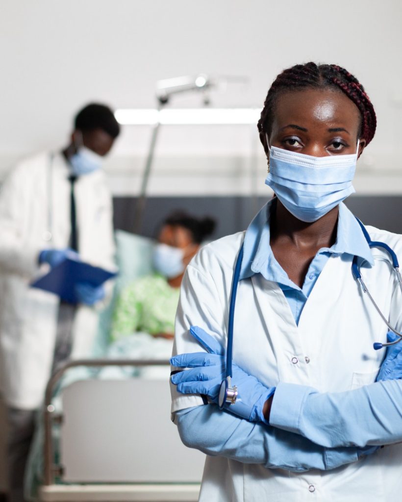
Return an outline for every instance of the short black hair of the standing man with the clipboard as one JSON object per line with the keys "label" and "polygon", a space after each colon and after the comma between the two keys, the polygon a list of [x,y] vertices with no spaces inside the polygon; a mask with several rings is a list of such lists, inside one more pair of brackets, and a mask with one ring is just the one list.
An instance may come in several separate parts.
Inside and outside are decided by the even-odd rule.
{"label": "short black hair of the standing man with the clipboard", "polygon": [[91,131],[102,129],[112,138],[117,138],[120,126],[113,111],[104,104],[90,103],[80,110],[74,119],[75,129]]}

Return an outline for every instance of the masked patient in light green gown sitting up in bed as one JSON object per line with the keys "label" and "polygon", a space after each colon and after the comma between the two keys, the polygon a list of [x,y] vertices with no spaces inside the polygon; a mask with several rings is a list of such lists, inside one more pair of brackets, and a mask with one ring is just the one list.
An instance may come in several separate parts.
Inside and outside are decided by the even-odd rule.
{"label": "masked patient in light green gown sitting up in bed", "polygon": [[[166,218],[153,250],[155,272],[129,283],[116,301],[109,357],[169,359],[185,268],[214,228],[209,217],[176,212]],[[155,378],[161,371],[166,368],[143,368],[140,374]]]}

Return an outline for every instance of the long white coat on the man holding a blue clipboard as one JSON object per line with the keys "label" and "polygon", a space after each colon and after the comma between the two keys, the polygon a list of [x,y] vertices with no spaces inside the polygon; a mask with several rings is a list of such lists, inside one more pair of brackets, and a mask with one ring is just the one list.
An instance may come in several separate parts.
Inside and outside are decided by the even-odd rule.
{"label": "long white coat on the man holding a blue clipboard", "polygon": [[[48,267],[38,266],[41,249],[68,246],[68,175],[61,154],[52,162],[50,153],[39,154],[21,162],[0,193],[0,389],[6,403],[16,408],[38,407],[50,376],[59,299],[29,284]],[[82,260],[113,267],[112,205],[102,172],[78,178],[75,202]],[[44,240],[49,230],[51,242]],[[88,355],[97,318],[93,308],[77,309],[73,358]]]}

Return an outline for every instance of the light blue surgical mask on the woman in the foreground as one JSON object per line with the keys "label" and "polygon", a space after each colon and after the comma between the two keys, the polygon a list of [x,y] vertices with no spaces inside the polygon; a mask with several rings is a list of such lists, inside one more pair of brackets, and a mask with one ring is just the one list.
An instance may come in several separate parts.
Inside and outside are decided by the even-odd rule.
{"label": "light blue surgical mask on the woman in the foreground", "polygon": [[355,154],[313,157],[272,147],[265,183],[290,213],[311,223],[355,192],[358,149],[359,143]]}

